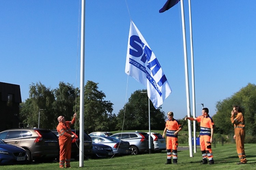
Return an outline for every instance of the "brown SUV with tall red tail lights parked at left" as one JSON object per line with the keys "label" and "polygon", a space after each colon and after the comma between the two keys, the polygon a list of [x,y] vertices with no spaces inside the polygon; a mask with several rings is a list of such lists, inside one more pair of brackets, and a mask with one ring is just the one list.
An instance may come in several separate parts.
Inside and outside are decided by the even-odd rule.
{"label": "brown SUV with tall red tail lights parked at left", "polygon": [[28,162],[53,161],[59,155],[58,138],[50,130],[9,129],[0,132],[0,139],[26,150]]}

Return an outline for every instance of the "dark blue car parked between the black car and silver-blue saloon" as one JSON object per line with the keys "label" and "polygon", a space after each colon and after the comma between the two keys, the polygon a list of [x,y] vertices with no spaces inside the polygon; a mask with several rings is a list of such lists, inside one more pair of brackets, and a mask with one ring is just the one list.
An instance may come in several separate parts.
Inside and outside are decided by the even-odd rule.
{"label": "dark blue car parked between the black car and silver-blue saloon", "polygon": [[107,157],[113,155],[113,149],[110,146],[93,142],[93,156]]}

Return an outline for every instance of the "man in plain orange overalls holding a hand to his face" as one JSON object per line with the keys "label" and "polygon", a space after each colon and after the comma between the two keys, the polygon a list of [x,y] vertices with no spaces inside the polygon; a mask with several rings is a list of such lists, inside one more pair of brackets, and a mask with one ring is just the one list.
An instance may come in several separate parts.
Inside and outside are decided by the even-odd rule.
{"label": "man in plain orange overalls holding a hand to his face", "polygon": [[[236,114],[236,118],[234,118],[234,114]],[[236,140],[237,145],[237,154],[240,159],[240,164],[246,164],[246,156],[244,152],[244,138],[245,138],[245,123],[244,116],[242,114],[242,110],[239,106],[233,106],[233,110],[231,112],[231,123],[234,124],[234,139]]]}

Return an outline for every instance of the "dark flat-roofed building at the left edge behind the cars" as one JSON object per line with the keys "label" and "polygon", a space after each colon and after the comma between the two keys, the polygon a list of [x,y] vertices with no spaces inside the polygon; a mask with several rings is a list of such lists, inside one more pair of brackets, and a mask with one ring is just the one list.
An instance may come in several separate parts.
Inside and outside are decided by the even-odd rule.
{"label": "dark flat-roofed building at the left edge behind the cars", "polygon": [[19,127],[21,102],[19,85],[0,82],[0,132]]}

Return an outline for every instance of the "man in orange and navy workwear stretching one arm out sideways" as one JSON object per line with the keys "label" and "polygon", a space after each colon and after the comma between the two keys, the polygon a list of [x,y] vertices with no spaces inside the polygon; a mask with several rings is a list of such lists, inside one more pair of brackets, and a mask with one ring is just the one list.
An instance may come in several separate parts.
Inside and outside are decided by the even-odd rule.
{"label": "man in orange and navy workwear stretching one arm out sideways", "polygon": [[213,137],[213,128],[214,122],[209,116],[209,109],[203,108],[202,115],[197,118],[185,117],[185,120],[196,120],[200,122],[200,146],[203,157],[202,164],[207,164],[207,157],[209,159],[209,164],[214,164],[213,154],[212,154],[212,137]]}

